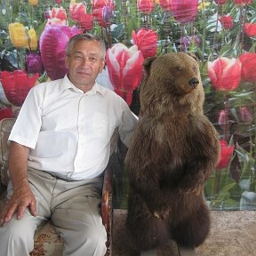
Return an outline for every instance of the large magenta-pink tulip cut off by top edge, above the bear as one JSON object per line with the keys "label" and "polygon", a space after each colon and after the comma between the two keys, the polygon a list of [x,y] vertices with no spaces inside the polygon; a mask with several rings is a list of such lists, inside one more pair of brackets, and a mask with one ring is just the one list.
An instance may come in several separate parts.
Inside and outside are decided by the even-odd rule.
{"label": "large magenta-pink tulip cut off by top edge, above the bear", "polygon": [[198,0],[172,0],[172,15],[182,24],[192,22],[196,18]]}

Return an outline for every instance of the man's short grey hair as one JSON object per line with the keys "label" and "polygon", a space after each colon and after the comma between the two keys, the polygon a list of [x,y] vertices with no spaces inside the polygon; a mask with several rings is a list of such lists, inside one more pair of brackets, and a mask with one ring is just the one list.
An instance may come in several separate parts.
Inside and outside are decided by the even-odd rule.
{"label": "man's short grey hair", "polygon": [[84,41],[97,41],[100,43],[100,48],[101,48],[101,59],[105,60],[106,57],[106,45],[104,43],[104,41],[100,38],[100,36],[96,36],[96,35],[92,35],[89,33],[82,33],[82,34],[78,34],[76,36],[73,36],[70,38],[70,40],[68,41],[68,44],[66,46],[66,55],[69,57],[70,53],[72,51],[72,48],[74,47],[74,45],[76,44],[77,41],[80,40],[84,40]]}

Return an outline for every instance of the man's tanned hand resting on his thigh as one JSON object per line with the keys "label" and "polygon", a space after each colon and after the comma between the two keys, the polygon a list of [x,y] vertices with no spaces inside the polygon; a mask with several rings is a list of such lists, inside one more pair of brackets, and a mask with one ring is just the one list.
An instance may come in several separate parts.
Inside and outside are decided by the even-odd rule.
{"label": "man's tanned hand resting on his thigh", "polygon": [[19,189],[15,189],[12,197],[4,206],[4,210],[0,218],[0,226],[2,226],[4,222],[10,221],[15,212],[17,212],[17,219],[22,219],[27,207],[33,216],[37,215],[36,198],[31,189],[29,186],[22,186]]}

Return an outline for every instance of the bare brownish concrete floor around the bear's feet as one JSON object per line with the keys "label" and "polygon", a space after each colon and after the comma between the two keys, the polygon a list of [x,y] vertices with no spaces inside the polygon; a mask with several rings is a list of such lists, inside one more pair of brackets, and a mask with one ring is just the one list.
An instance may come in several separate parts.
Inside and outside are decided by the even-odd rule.
{"label": "bare brownish concrete floor around the bear's feet", "polygon": [[[127,238],[122,234],[126,210],[114,210],[112,256],[139,256],[125,248]],[[212,211],[212,228],[204,244],[196,249],[180,248],[170,241],[164,248],[157,248],[156,256],[253,256],[256,255],[256,211]],[[125,240],[126,239],[126,240]],[[155,254],[154,254],[155,253]]]}

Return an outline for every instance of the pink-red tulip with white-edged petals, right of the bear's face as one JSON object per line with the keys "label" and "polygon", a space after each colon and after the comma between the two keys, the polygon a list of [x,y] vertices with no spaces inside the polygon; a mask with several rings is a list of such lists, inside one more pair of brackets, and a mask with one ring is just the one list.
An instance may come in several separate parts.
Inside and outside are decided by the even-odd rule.
{"label": "pink-red tulip with white-edged petals, right of the bear's face", "polygon": [[241,81],[241,62],[237,59],[221,57],[208,62],[208,76],[212,86],[220,91],[233,91]]}

